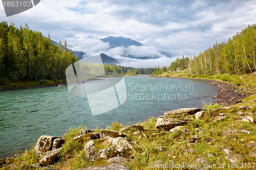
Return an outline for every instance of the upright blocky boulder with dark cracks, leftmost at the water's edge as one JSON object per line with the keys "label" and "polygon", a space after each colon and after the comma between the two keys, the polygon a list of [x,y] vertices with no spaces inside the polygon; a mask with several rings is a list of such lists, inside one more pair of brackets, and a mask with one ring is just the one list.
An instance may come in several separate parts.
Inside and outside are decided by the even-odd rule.
{"label": "upright blocky boulder with dark cracks, leftmost at the water's edge", "polygon": [[42,135],[38,138],[35,148],[34,148],[34,154],[44,154],[48,151],[52,150],[53,141],[56,138],[56,136],[49,136],[49,135]]}

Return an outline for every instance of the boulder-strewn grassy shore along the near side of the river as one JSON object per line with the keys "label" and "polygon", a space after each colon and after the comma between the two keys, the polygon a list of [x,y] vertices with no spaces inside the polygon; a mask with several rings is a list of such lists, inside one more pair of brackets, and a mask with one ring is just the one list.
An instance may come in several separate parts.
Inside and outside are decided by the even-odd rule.
{"label": "boulder-strewn grassy shore along the near side of the river", "polygon": [[[143,151],[143,145],[156,142],[155,153],[162,154],[162,159],[168,159],[169,165],[180,163],[180,159],[187,159],[189,163],[210,165],[213,163],[224,165],[225,162],[244,163],[256,158],[256,141],[251,140],[256,133],[255,101],[250,106],[230,106],[216,109],[182,108],[165,112],[155,119],[154,127],[148,129],[146,125],[130,125],[118,131],[81,129],[72,143],[82,144],[80,153],[89,162],[106,160],[103,165],[89,165],[77,170],[89,169],[133,169],[134,162],[138,161],[136,152]],[[255,111],[255,112],[249,112]],[[209,129],[195,126],[198,121],[218,126],[217,135],[208,135]],[[239,125],[246,126],[239,126]],[[230,137],[239,140],[229,141]],[[165,141],[165,139],[167,139]],[[173,141],[170,147],[164,143]],[[225,142],[225,141],[229,142]],[[148,143],[152,141],[153,143]],[[38,155],[37,162],[31,164],[30,169],[59,169],[53,164],[59,161],[60,154],[65,150],[67,138],[43,135],[38,138],[34,154]],[[236,146],[234,146],[235,144]],[[207,150],[199,150],[197,145],[204,145]],[[240,145],[243,150],[240,151]],[[142,149],[142,150],[141,150]],[[248,152],[247,152],[248,150]],[[146,152],[146,151],[143,151]],[[143,153],[142,153],[143,154]],[[63,155],[62,155],[63,156]],[[148,155],[150,156],[150,155]],[[153,154],[154,156],[154,154]],[[166,160],[158,159],[154,163],[160,168]],[[192,159],[192,160],[191,160]],[[184,160],[183,160],[184,161]],[[5,162],[6,163],[6,162]],[[19,169],[26,161],[4,165],[10,169]],[[144,165],[143,169],[150,169],[151,164]],[[65,169],[65,168],[63,168]],[[136,168],[135,168],[136,169]],[[207,168],[194,168],[207,169]],[[217,168],[218,169],[218,168]],[[252,168],[253,169],[253,168]],[[254,168],[255,169],[255,168]]]}

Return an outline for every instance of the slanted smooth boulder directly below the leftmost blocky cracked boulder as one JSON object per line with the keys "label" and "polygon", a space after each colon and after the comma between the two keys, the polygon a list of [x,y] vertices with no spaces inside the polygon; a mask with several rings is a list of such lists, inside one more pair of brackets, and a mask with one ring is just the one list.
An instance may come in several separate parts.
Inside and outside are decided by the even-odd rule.
{"label": "slanted smooth boulder directly below the leftmost blocky cracked boulder", "polygon": [[59,149],[48,151],[48,152],[42,154],[39,157],[39,163],[41,163],[43,165],[52,164],[54,161],[56,161],[59,158],[58,155],[61,150],[62,150],[62,148],[59,148]]}

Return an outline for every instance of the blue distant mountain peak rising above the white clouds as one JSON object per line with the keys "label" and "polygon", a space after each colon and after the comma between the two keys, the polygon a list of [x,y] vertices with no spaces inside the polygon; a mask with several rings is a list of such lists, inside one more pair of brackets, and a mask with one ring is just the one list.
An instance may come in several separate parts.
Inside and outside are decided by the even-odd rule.
{"label": "blue distant mountain peak rising above the white clouds", "polygon": [[103,38],[100,39],[103,42],[109,42],[110,48],[115,48],[117,46],[130,46],[130,45],[135,45],[135,46],[142,46],[143,44],[135,41],[131,38],[124,38],[124,37],[108,37],[108,38]]}

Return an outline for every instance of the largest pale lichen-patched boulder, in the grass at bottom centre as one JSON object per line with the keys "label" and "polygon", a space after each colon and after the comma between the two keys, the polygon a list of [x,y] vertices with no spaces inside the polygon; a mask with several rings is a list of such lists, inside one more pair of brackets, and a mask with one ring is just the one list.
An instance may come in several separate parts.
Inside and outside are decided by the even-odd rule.
{"label": "largest pale lichen-patched boulder, in the grass at bottom centre", "polygon": [[123,137],[91,140],[84,146],[86,159],[91,161],[130,156],[133,149],[131,143]]}

